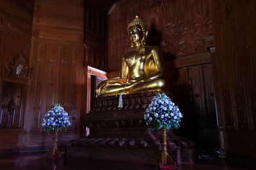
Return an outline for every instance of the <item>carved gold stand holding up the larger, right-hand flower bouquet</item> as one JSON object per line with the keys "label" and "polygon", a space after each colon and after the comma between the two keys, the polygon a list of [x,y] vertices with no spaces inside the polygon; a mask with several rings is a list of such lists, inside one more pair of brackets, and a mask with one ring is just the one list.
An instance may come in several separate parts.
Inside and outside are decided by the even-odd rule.
{"label": "carved gold stand holding up the larger, right-hand flower bouquet", "polygon": [[173,162],[172,157],[168,155],[166,148],[166,127],[163,127],[163,149],[161,153],[161,158],[159,161],[159,167],[161,169],[176,169],[177,166],[175,162]]}

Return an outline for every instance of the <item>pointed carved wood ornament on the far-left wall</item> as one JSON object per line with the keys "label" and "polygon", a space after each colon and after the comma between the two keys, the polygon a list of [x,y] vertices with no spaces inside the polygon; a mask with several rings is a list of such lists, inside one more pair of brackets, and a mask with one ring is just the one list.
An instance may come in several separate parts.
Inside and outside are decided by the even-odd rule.
{"label": "pointed carved wood ornament on the far-left wall", "polygon": [[6,63],[6,76],[13,78],[21,78],[28,80],[30,78],[30,71],[28,62],[22,52],[17,52],[10,57],[10,60]]}

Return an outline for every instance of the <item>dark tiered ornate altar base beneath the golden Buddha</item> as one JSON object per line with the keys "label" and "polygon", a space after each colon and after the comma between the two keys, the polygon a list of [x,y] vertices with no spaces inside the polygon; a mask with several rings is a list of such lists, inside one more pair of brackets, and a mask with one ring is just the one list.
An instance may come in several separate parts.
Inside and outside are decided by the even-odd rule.
{"label": "dark tiered ornate altar base beneath the golden Buddha", "polygon": [[[157,94],[144,92],[123,95],[123,108],[117,108],[119,96],[94,99],[93,109],[84,116],[90,136],[77,139],[67,147],[68,157],[118,159],[156,164],[161,153],[161,132],[148,130],[143,114]],[[167,133],[168,153],[178,164],[193,162],[195,143]]]}

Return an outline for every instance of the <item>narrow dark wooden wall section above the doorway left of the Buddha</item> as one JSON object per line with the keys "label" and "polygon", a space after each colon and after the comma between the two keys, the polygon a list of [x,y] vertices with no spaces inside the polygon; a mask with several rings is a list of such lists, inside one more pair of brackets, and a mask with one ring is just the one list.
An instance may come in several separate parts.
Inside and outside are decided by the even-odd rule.
{"label": "narrow dark wooden wall section above the doorway left of the Buddha", "polygon": [[107,70],[106,30],[107,12],[91,1],[84,5],[84,64]]}

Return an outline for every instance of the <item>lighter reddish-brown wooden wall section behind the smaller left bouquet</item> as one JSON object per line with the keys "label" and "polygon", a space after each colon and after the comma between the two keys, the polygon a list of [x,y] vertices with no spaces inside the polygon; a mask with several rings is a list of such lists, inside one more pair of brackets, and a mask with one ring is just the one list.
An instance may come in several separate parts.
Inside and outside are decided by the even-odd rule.
{"label": "lighter reddish-brown wooden wall section behind the smaller left bouquet", "polygon": [[84,85],[83,1],[35,1],[31,39],[31,73],[24,149],[51,145],[42,130],[42,118],[52,104],[60,103],[70,115],[71,127],[60,134],[60,142],[76,139]]}

